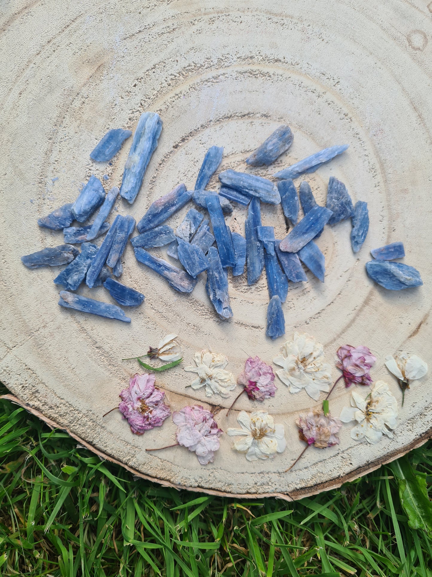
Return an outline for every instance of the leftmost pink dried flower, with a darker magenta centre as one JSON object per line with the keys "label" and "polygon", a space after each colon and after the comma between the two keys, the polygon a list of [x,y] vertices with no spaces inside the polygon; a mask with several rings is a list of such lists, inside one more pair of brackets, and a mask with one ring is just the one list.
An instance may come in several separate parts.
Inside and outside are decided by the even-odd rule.
{"label": "leftmost pink dried flower, with a darker magenta centre", "polygon": [[164,403],[165,393],[154,386],[155,378],[154,374],[135,374],[129,380],[129,387],[120,393],[119,410],[130,424],[132,433],[143,434],[159,427],[171,414]]}

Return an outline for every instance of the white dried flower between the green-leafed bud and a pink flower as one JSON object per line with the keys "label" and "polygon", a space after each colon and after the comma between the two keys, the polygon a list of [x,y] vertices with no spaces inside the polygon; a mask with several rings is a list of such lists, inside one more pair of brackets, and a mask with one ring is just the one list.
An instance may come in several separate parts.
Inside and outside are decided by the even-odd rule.
{"label": "white dried flower between the green-leafed bud and a pink flower", "polygon": [[228,397],[228,391],[236,388],[236,381],[228,370],[224,370],[228,365],[228,359],[224,355],[201,351],[195,353],[196,366],[185,366],[184,370],[189,373],[198,373],[198,377],[191,387],[196,390],[205,385],[206,396],[219,393],[223,397]]}

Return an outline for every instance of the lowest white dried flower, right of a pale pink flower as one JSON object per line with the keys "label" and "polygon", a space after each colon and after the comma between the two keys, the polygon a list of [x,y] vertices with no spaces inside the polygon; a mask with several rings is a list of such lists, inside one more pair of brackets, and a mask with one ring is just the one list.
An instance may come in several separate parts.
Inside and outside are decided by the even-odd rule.
{"label": "lowest white dried flower, right of a pale pink flower", "polygon": [[234,443],[234,449],[246,454],[248,461],[272,459],[276,452],[282,453],[286,447],[283,425],[275,425],[267,411],[255,411],[250,416],[240,411],[237,421],[241,429],[228,429],[230,436],[242,436]]}

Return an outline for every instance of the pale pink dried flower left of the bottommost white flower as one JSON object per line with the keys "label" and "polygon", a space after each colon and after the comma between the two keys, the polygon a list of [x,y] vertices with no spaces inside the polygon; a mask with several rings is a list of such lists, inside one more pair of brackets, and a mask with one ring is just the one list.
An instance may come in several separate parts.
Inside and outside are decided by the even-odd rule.
{"label": "pale pink dried flower left of the bottommost white flower", "polygon": [[222,429],[218,428],[213,413],[206,411],[199,404],[187,406],[172,414],[177,425],[179,445],[194,451],[202,465],[213,463],[214,451],[220,447],[219,437]]}

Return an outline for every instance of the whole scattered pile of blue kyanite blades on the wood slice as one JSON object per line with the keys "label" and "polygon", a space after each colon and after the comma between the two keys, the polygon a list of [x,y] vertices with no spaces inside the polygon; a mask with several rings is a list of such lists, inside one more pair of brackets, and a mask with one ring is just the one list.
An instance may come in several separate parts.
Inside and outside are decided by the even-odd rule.
{"label": "whole scattered pile of blue kyanite blades on the wood slice", "polygon": [[[117,215],[111,226],[106,219],[119,193],[130,204],[134,202],[161,131],[162,121],[158,114],[142,114],[124,167],[120,190],[114,186],[105,193],[101,181],[92,176],[74,203],[65,204],[38,220],[39,226],[63,230],[65,244],[44,248],[21,260],[29,268],[67,264],[54,279],[55,284],[65,288],[60,291],[59,305],[130,322],[119,306],[71,292],[84,281],[90,288],[103,284],[120,305],[137,306],[143,302],[142,293],[115,280],[122,275],[122,255],[135,230],[135,219]],[[96,162],[111,160],[131,134],[130,130],[109,130],[90,158]],[[246,159],[246,163],[249,166],[269,165],[287,151],[292,141],[290,128],[280,126]],[[353,251],[358,252],[365,241],[369,228],[367,204],[359,200],[353,205],[342,182],[334,177],[329,179],[325,207],[317,205],[307,182],[300,184],[298,193],[293,183],[293,179],[312,173],[347,148],[348,145],[325,148],[279,171],[274,174],[279,179],[277,185],[254,174],[225,170],[219,174],[221,188],[218,192],[206,190],[206,186],[221,163],[223,148],[209,148],[198,172],[195,189],[187,190],[184,184],[176,186],[154,201],[136,225],[139,234],[131,238],[135,257],[181,293],[191,293],[200,273],[206,272],[207,294],[218,316],[224,320],[233,316],[229,304],[228,269],[232,269],[234,276],[242,275],[246,264],[247,282],[254,284],[265,267],[270,299],[267,335],[275,339],[285,334],[281,303],[285,302],[289,280],[294,283],[307,280],[301,263],[324,282],[324,255],[313,241],[320,236],[325,224],[332,226],[350,218]],[[202,212],[191,208],[176,231],[163,224],[190,201]],[[224,215],[233,211],[232,202],[248,206],[244,236],[233,232],[225,223]],[[275,239],[274,227],[262,226],[262,203],[281,204],[287,230],[292,226],[283,240]],[[304,216],[298,220],[300,204]],[[73,220],[85,223],[97,208],[99,211],[93,223],[71,226]],[[105,238],[99,247],[91,242],[103,234]],[[79,243],[81,252],[74,246]],[[183,269],[146,250],[164,245],[169,245],[168,255],[178,260]],[[402,243],[383,246],[373,250],[372,254],[376,260],[366,264],[366,271],[382,287],[401,290],[422,284],[415,268],[394,262],[394,259],[404,256]]]}

